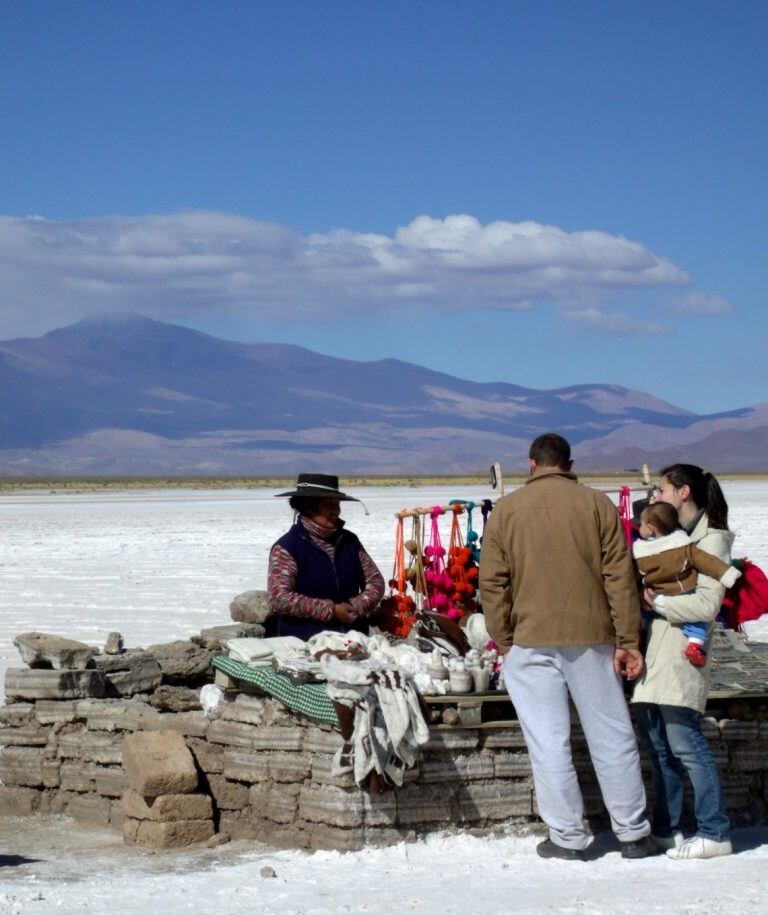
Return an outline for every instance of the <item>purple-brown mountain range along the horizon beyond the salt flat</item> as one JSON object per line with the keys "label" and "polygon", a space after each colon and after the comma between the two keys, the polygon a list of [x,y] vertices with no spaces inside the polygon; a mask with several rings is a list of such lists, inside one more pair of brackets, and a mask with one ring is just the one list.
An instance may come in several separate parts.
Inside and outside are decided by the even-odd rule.
{"label": "purple-brown mountain range along the horizon beyond the salt flat", "polygon": [[618,385],[478,383],[139,315],[0,343],[4,475],[513,470],[549,430],[582,469],[768,469],[768,404],[699,416]]}

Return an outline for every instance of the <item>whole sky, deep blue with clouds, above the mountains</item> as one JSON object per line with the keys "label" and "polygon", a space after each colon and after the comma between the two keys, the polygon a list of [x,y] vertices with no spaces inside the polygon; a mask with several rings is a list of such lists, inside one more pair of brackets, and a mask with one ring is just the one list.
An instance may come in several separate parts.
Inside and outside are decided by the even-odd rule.
{"label": "whole sky, deep blue with clouds, above the mountains", "polygon": [[698,412],[768,399],[764,2],[2,19],[0,337],[135,310]]}

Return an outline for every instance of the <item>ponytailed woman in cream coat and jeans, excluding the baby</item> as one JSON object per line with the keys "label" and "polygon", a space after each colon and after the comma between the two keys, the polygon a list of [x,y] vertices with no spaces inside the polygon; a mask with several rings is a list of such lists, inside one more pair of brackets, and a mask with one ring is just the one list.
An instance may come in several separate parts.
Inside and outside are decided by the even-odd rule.
{"label": "ponytailed woman in cream coat and jeans, excluding the baby", "polygon": [[[717,479],[693,464],[672,464],[660,474],[656,501],[677,510],[690,542],[723,562],[731,560],[733,534],[728,505]],[[695,590],[654,595],[646,670],[632,702],[640,737],[650,756],[655,803],[652,838],[670,858],[712,858],[731,853],[730,827],[720,779],[701,717],[709,692],[710,664],[695,666],[686,657],[682,624],[711,623],[720,611],[724,586],[699,575]],[[683,840],[680,818],[684,775],[693,786],[696,834]]]}

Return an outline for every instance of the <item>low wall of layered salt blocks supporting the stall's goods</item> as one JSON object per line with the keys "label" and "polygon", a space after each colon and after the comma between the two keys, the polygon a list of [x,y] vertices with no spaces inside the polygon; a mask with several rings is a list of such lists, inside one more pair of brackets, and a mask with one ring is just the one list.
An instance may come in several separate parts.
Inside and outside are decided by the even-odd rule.
{"label": "low wall of layered salt blocks supporting the stall's goods", "polygon": [[[447,828],[488,833],[537,823],[530,761],[516,723],[433,729],[420,765],[406,773],[403,787],[372,796],[351,777],[332,774],[341,741],[332,729],[276,701],[245,694],[228,694],[212,720],[188,708],[194,694],[184,690],[160,686],[139,698],[11,698],[0,708],[0,813],[66,812],[86,823],[121,828],[125,735],[172,730],[192,751],[197,790],[213,800],[215,827],[234,838],[344,850]],[[709,711],[705,734],[732,819],[764,820],[768,704],[741,700]],[[576,729],[573,738],[587,813],[600,817],[602,802],[583,735]]]}

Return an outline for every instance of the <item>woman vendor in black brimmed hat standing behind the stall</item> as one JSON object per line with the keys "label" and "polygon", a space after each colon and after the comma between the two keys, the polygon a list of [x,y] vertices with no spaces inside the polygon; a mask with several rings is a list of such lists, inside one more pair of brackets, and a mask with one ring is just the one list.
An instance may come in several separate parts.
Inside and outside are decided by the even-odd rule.
{"label": "woman vendor in black brimmed hat standing behind the stall", "polygon": [[384,594],[384,579],[357,537],[339,517],[339,478],[300,473],[289,497],[293,527],[269,554],[269,604],[276,635],[305,641],[318,632],[368,631],[367,617]]}

